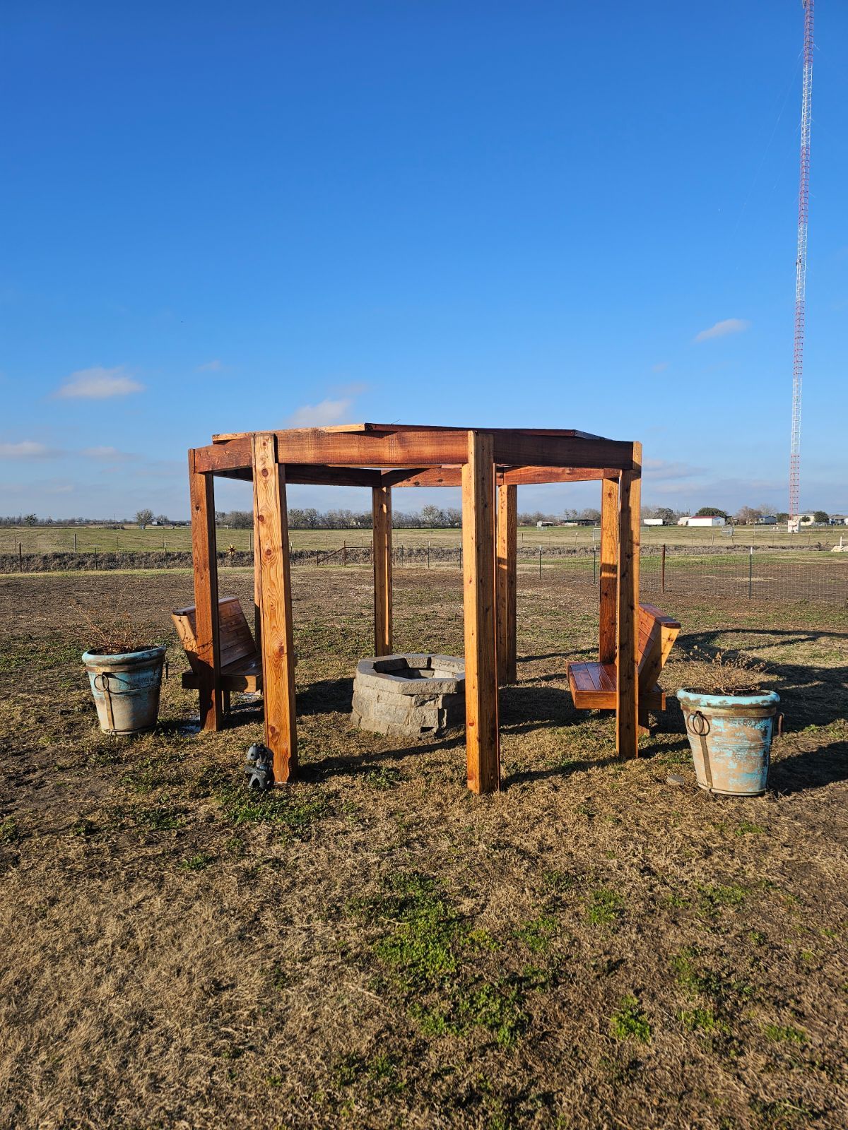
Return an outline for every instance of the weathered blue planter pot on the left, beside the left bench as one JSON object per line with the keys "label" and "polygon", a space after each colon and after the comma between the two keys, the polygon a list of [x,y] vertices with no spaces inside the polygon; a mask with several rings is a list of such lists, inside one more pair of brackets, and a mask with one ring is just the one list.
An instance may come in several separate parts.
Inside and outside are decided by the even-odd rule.
{"label": "weathered blue planter pot on the left, beside the left bench", "polygon": [[104,733],[139,733],[156,725],[165,649],[147,647],[121,655],[83,655]]}

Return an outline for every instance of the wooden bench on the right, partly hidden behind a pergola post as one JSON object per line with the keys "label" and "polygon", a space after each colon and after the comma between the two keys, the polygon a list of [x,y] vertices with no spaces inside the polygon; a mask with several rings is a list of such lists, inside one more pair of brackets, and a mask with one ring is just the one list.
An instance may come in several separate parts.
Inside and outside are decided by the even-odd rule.
{"label": "wooden bench on the right, partly hidden behind a pergola post", "polygon": [[[639,606],[639,724],[647,728],[649,710],[665,710],[665,690],[657,684],[681,626],[654,605]],[[618,679],[615,663],[569,663],[569,689],[578,710],[615,710]]]}

